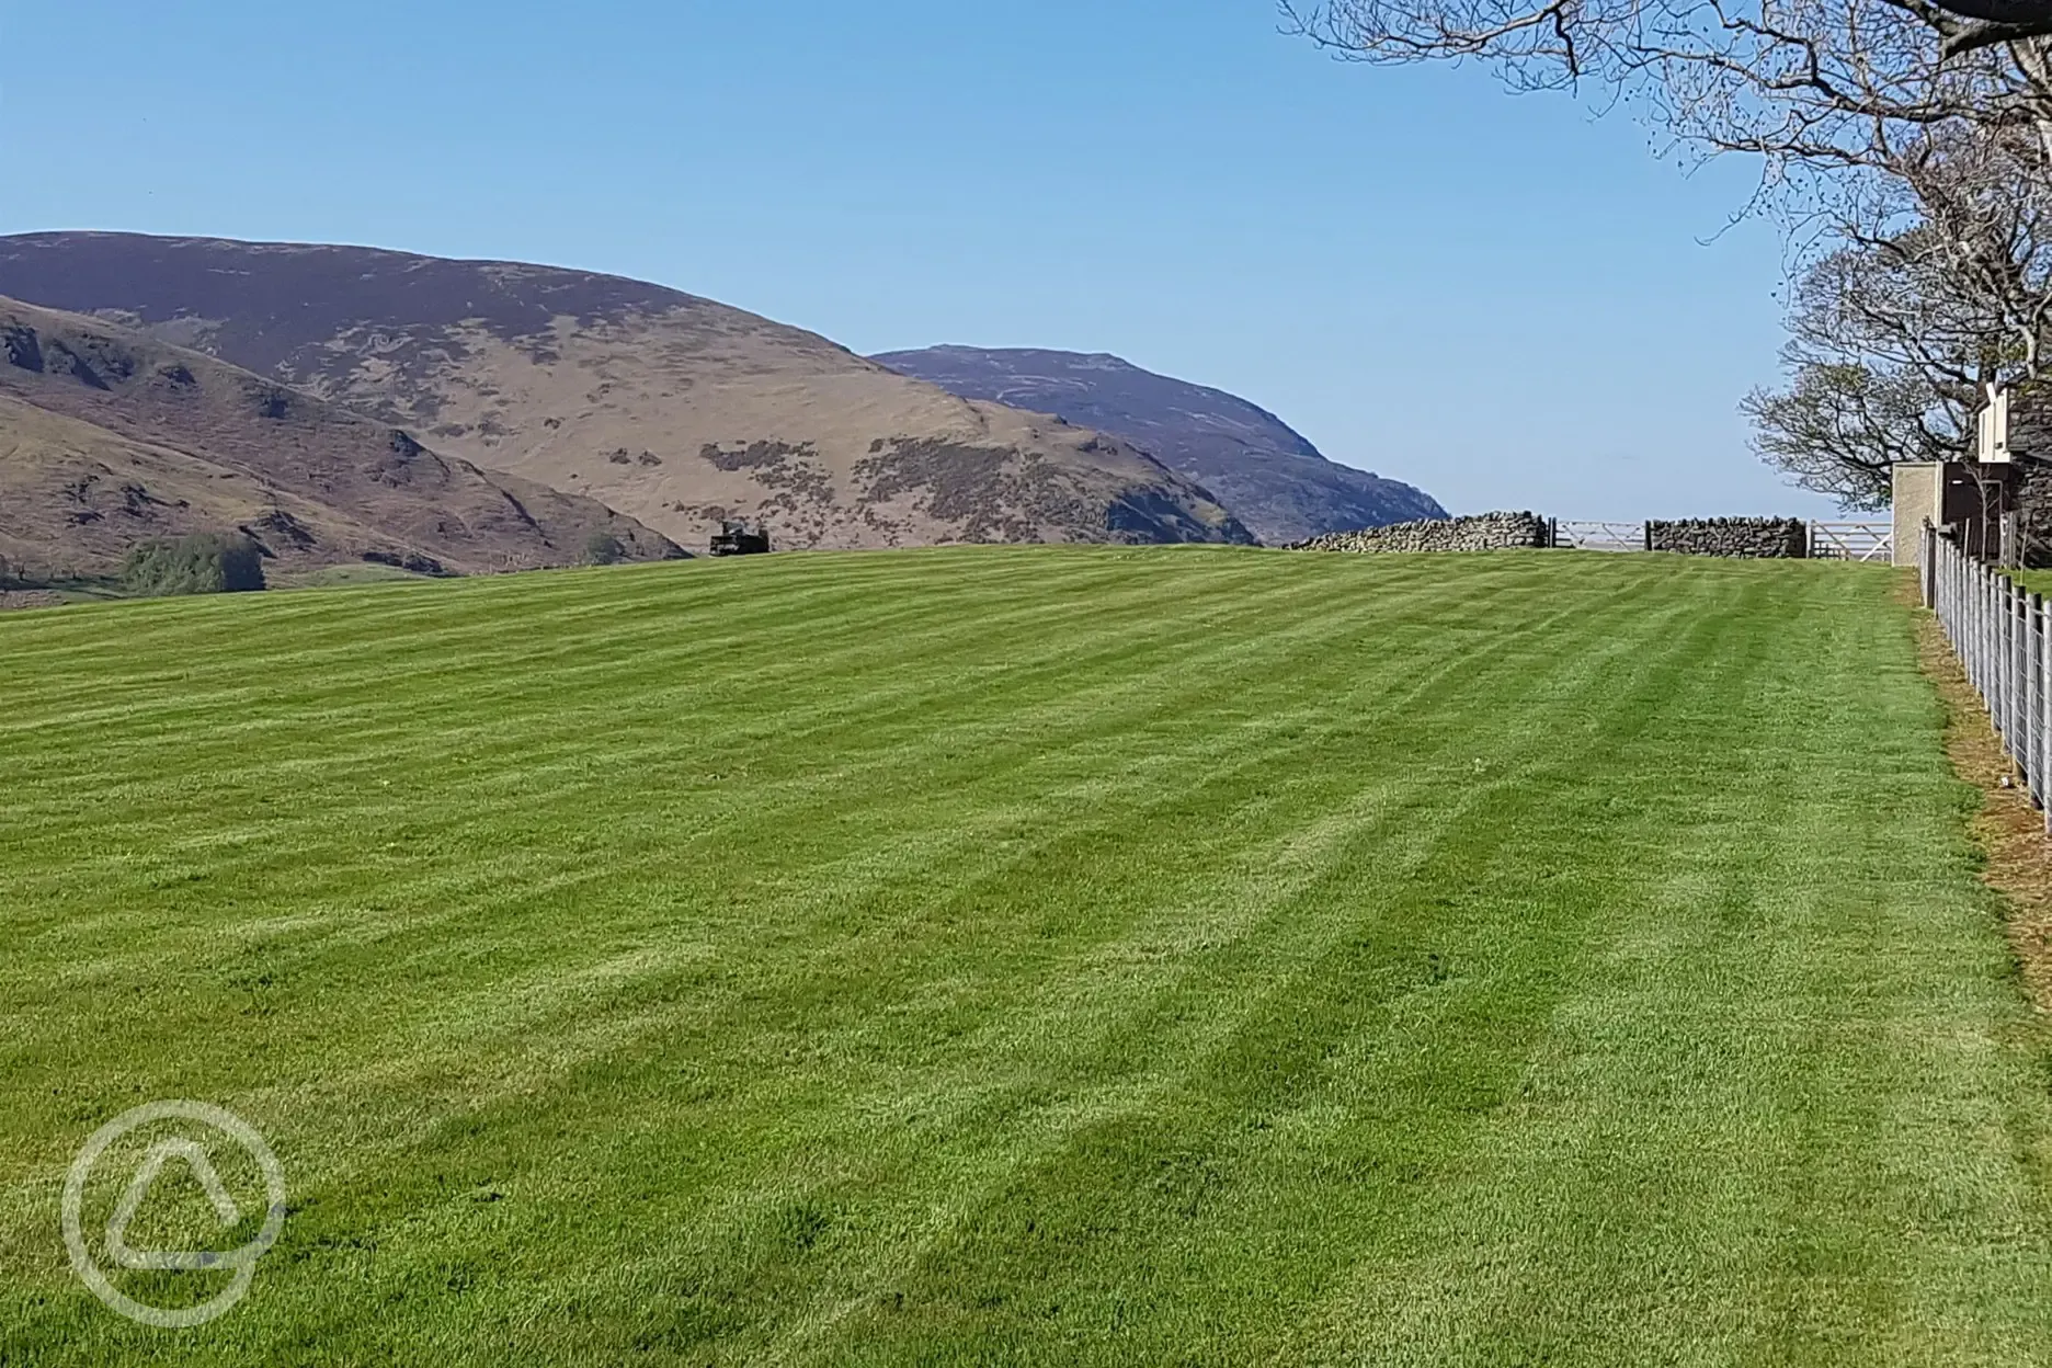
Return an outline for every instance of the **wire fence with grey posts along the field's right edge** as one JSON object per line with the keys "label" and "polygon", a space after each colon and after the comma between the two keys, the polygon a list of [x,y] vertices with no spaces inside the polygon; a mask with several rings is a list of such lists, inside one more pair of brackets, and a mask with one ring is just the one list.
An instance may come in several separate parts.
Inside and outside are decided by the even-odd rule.
{"label": "wire fence with grey posts along the field's right edge", "polygon": [[[1923,529],[1925,607],[1960,654],[1966,679],[1988,708],[1988,720],[2015,761],[2031,800],[2046,808],[2052,786],[2052,621],[2042,595],[1990,570],[1931,523]],[[2046,810],[2052,833],[2052,808]]]}

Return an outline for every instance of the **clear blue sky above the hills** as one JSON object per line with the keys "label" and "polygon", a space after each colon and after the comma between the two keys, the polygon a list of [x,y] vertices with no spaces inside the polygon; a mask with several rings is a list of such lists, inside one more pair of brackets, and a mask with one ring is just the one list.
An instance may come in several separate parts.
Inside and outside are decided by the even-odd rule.
{"label": "clear blue sky above the hills", "polygon": [[1752,168],[1270,0],[0,0],[0,232],[616,271],[872,353],[1110,351],[1455,511],[1824,515],[1746,449]]}

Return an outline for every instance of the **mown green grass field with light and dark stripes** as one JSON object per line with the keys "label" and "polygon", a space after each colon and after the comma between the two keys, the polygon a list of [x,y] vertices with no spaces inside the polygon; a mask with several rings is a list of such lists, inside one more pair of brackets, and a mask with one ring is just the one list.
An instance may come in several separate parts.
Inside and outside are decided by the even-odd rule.
{"label": "mown green grass field with light and dark stripes", "polygon": [[[944,550],[0,619],[0,1362],[2052,1362],[2052,1071],[1894,595]],[[60,1239],[158,1097],[291,1194],[193,1331]]]}

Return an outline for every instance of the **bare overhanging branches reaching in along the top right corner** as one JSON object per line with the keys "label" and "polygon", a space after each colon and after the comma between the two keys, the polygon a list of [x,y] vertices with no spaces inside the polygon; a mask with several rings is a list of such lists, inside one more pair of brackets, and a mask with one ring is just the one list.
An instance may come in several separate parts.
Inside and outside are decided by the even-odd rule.
{"label": "bare overhanging branches reaching in along the top right corner", "polygon": [[[1990,142],[2052,180],[2052,0],[1280,0],[1358,62],[1473,59],[1514,90],[1625,100],[1676,150],[1761,160],[1802,240],[1892,236],[1931,158]],[[1999,144],[1999,152],[1992,148]]]}

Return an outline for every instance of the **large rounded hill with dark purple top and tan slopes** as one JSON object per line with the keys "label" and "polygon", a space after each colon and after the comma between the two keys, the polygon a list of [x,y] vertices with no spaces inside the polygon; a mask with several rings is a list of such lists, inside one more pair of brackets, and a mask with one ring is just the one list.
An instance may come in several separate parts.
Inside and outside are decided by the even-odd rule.
{"label": "large rounded hill with dark purple top and tan slopes", "polygon": [[694,546],[731,515],[815,548],[1252,539],[1129,443],[611,275],[27,234],[0,238],[0,293],[205,351]]}

